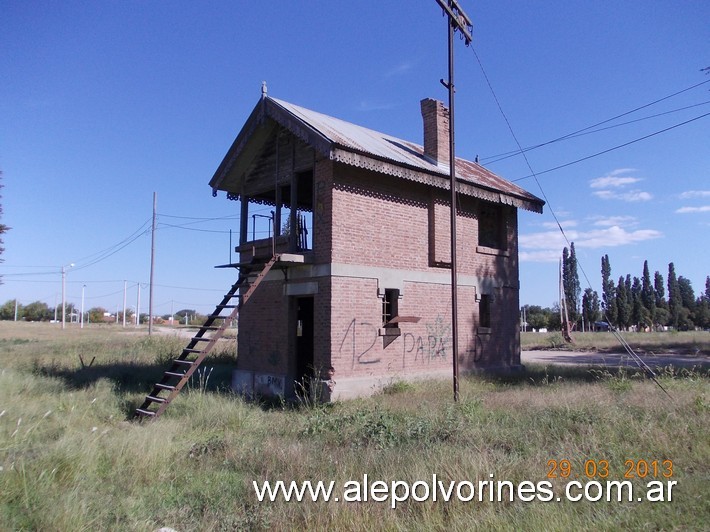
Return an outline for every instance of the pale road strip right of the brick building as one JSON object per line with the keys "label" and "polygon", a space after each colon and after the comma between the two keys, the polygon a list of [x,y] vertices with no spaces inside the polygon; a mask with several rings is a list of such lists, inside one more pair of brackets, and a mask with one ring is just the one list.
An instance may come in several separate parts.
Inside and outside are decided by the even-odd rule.
{"label": "pale road strip right of the brick building", "polygon": [[[707,355],[681,355],[681,354],[640,354],[646,364],[651,368],[665,367],[670,364],[677,367],[705,366],[710,367],[710,357]],[[521,354],[523,364],[547,365],[592,365],[592,366],[631,366],[638,367],[636,362],[627,353],[597,353],[574,351],[523,351]]]}

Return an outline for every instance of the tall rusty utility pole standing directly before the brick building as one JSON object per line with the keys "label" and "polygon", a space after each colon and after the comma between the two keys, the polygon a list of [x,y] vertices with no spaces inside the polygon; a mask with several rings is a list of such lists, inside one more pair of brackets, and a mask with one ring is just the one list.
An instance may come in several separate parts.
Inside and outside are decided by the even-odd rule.
{"label": "tall rusty utility pole standing directly before the brick building", "polygon": [[458,336],[458,271],[456,268],[456,152],[454,129],[454,33],[463,35],[466,46],[471,44],[473,23],[464,13],[458,0],[436,0],[449,19],[449,79],[441,84],[449,90],[449,169],[451,177],[451,336],[454,372],[454,401],[459,400],[459,336]]}

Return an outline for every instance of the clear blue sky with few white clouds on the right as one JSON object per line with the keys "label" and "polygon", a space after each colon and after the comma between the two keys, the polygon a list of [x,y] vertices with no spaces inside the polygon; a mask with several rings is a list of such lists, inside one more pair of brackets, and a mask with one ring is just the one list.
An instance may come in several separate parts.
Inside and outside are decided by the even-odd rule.
{"label": "clear blue sky with few white clouds on the right", "polygon": [[[543,215],[520,215],[521,302],[557,299],[565,241],[549,207],[594,289],[608,254],[615,278],[640,276],[645,259],[665,276],[673,261],[699,293],[710,274],[710,3],[461,5],[474,43],[456,43],[457,154],[549,200]],[[73,263],[69,301],[84,287],[87,307],[115,311],[127,281],[128,305],[141,285],[146,311],[157,192],[155,311],[211,311],[233,282],[213,267],[230,260],[239,222],[207,183],[262,80],[276,98],[421,143],[419,101],[446,101],[446,66],[434,0],[0,0],[12,227],[0,303],[54,306]],[[662,101],[526,152],[536,182],[520,155],[499,160],[517,146],[496,99],[525,148]]]}

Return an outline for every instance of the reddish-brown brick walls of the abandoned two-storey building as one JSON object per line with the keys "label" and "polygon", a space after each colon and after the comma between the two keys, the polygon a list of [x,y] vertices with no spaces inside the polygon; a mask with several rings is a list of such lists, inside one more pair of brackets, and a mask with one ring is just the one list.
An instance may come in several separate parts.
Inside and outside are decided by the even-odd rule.
{"label": "reddish-brown brick walls of the abandoned two-storey building", "polygon": [[[423,110],[424,112],[424,110]],[[452,365],[449,192],[365,169],[316,162],[314,365],[336,380],[408,378]],[[518,330],[517,213],[501,206],[503,249],[478,245],[481,202],[461,197],[457,217],[459,364],[462,371],[515,368]],[[295,272],[295,270],[294,270]],[[289,283],[296,283],[295,273]],[[242,309],[238,368],[295,377],[296,306],[272,273]],[[388,286],[394,284],[396,286]],[[400,290],[399,334],[382,323],[382,294]],[[491,327],[479,299],[491,298]],[[389,331],[391,332],[391,331]]]}

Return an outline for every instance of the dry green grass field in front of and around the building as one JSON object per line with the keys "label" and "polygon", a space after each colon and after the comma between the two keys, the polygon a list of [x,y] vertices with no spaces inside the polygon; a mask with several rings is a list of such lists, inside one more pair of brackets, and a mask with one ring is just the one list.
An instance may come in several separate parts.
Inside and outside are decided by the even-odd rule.
{"label": "dry green grass field in front of and around the building", "polygon": [[[625,371],[532,367],[511,379],[466,378],[457,404],[449,382],[430,381],[298,408],[227,391],[232,340],[161,419],[129,421],[183,342],[0,322],[0,530],[707,530],[710,522],[706,370],[661,370],[671,398]],[[342,486],[364,474],[535,483],[559,476],[550,460],[569,460],[570,479],[581,480],[585,463],[606,460],[606,480],[622,480],[627,460],[672,460],[677,485],[670,502],[410,500],[396,509],[259,502],[252,488],[254,480]],[[665,482],[665,472],[639,473],[633,485]],[[565,479],[550,481],[562,495]]]}

